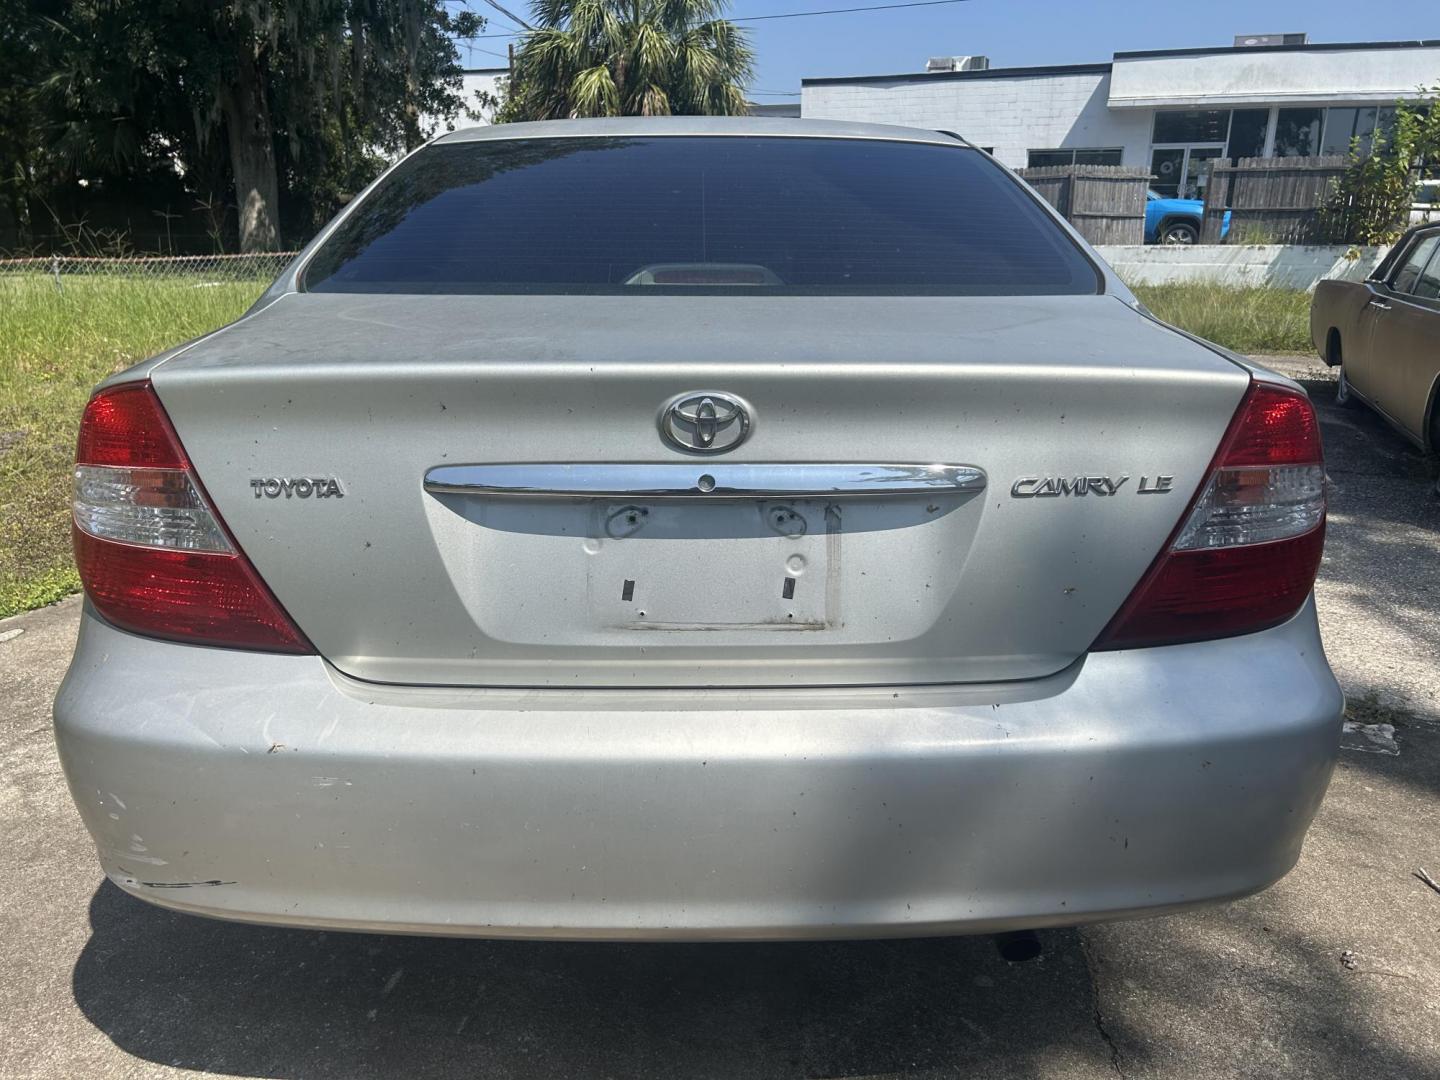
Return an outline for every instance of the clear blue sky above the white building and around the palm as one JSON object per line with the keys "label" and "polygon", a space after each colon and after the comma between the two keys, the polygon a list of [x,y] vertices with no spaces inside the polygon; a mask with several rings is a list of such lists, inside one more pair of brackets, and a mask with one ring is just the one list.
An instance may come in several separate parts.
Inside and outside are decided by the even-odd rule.
{"label": "clear blue sky above the white building and around the palm", "polygon": [[[524,16],[524,0],[500,0]],[[730,17],[857,7],[890,0],[732,0]],[[513,29],[491,17],[485,33]],[[927,56],[984,53],[996,68],[1087,63],[1125,49],[1184,49],[1230,45],[1237,33],[1305,30],[1312,42],[1365,42],[1440,37],[1434,0],[1188,0],[1064,3],[1063,0],[965,0],[939,7],[778,19],[746,23],[757,53],[753,91],[798,94],[802,76],[887,75],[924,68]],[[474,43],[501,56],[505,39]],[[464,53],[464,50],[462,50]],[[467,66],[498,66],[503,59],[472,53]],[[1436,72],[1440,81],[1440,72]],[[796,98],[755,94],[755,101]]]}

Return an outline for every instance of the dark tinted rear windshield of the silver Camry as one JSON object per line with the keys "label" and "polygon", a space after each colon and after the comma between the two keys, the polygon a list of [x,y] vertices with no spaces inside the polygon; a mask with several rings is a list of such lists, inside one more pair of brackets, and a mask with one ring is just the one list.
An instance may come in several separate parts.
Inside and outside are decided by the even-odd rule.
{"label": "dark tinted rear windshield of the silver Camry", "polygon": [[975,150],[848,138],[429,147],[317,251],[314,292],[1096,292]]}

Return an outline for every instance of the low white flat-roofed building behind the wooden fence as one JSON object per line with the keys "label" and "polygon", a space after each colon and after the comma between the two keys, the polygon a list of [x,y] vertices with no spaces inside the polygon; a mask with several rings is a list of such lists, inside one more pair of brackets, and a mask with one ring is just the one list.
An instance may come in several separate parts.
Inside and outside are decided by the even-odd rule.
{"label": "low white flat-roofed building behind the wooden fence", "polygon": [[1198,196],[1218,157],[1344,154],[1387,107],[1440,82],[1440,40],[1310,45],[1241,36],[1214,49],[1117,52],[1109,63],[991,68],[942,58],[912,75],[801,81],[801,115],[953,131],[1012,168],[1149,168]]}

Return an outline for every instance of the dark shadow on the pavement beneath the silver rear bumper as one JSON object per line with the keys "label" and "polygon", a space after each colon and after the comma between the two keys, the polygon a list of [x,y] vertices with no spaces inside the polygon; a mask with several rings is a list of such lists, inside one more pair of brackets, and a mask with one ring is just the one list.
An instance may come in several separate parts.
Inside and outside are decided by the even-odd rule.
{"label": "dark shadow on the pavement beneath the silver rear bumper", "polygon": [[1110,1076],[1074,930],[564,943],[213,922],[108,881],[73,994],[138,1058],[268,1077]]}

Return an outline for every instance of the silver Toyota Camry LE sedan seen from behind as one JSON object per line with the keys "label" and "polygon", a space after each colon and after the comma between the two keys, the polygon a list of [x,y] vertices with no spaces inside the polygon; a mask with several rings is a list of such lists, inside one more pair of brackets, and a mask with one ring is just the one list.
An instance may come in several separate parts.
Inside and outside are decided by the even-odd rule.
{"label": "silver Toyota Camry LE sedan seen from behind", "polygon": [[98,387],[105,874],[279,924],[968,933],[1236,897],[1342,698],[1315,413],[945,134],[446,135]]}

